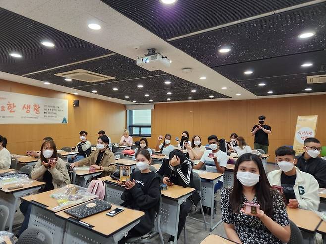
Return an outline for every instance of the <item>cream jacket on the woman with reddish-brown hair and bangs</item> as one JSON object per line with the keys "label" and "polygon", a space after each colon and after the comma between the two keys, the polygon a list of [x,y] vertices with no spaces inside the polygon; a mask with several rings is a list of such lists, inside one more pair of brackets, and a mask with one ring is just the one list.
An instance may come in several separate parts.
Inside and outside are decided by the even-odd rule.
{"label": "cream jacket on the woman with reddish-brown hair and bangs", "polygon": [[70,184],[66,163],[61,158],[58,158],[55,168],[53,169],[44,167],[41,159],[39,159],[31,172],[32,179],[43,181],[43,175],[47,170],[49,170],[52,175],[52,185],[54,188],[61,188]]}

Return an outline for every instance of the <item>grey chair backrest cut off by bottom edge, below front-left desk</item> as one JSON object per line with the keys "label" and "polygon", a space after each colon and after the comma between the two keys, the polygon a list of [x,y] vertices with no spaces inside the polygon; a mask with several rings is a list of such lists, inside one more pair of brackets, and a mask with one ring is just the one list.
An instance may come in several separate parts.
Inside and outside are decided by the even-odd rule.
{"label": "grey chair backrest cut off by bottom edge, below front-left desk", "polygon": [[31,227],[26,229],[18,239],[17,244],[52,244],[53,237],[51,233],[43,227]]}

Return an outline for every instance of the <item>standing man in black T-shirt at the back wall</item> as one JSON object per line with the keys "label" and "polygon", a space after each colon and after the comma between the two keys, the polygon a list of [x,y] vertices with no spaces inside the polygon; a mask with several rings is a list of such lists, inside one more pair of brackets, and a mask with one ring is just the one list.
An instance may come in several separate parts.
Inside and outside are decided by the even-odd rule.
{"label": "standing man in black T-shirt at the back wall", "polygon": [[268,152],[268,134],[271,134],[271,126],[265,124],[266,117],[261,115],[258,117],[258,125],[251,130],[251,135],[255,135],[254,149],[262,149],[265,154]]}

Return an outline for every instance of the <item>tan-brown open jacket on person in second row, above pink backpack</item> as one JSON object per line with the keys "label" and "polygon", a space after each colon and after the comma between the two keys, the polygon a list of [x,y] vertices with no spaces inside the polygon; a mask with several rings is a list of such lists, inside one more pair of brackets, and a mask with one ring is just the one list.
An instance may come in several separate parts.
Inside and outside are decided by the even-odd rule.
{"label": "tan-brown open jacket on person in second row, above pink backpack", "polygon": [[[76,162],[76,166],[91,166],[96,163],[97,156],[99,155],[100,150],[96,150],[92,152],[89,157],[84,158],[78,162]],[[114,171],[116,171],[115,157],[113,152],[109,148],[104,151],[103,157],[100,162],[100,167],[104,170],[101,174],[101,177],[110,175]]]}

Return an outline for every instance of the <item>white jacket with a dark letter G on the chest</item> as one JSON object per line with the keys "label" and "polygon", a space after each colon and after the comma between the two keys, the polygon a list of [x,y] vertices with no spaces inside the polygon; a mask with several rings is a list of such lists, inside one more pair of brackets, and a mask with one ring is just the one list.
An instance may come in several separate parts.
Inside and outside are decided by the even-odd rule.
{"label": "white jacket with a dark letter G on the chest", "polygon": [[[295,198],[298,200],[299,208],[318,211],[319,195],[318,195],[318,182],[308,173],[300,171],[295,167],[297,177],[293,186]],[[281,185],[282,170],[271,171],[267,178],[272,185]]]}

